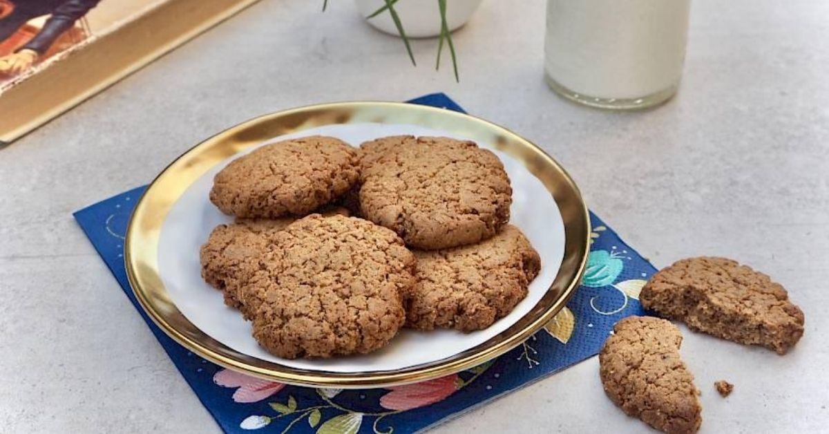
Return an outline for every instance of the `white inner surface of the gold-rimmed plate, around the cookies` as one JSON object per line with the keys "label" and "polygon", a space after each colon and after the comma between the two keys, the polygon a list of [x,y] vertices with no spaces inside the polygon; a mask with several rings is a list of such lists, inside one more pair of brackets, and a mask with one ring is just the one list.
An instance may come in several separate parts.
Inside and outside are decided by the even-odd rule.
{"label": "white inner surface of the gold-rimmed plate, around the cookies", "polygon": [[[263,144],[313,134],[337,137],[353,146],[358,146],[366,140],[396,134],[468,139],[448,131],[427,129],[418,125],[361,123],[332,124],[305,129],[299,133],[270,139]],[[478,145],[492,150],[504,163],[513,188],[511,223],[520,227],[530,239],[541,255],[542,264],[541,273],[533,280],[526,298],[510,315],[499,319],[487,329],[468,334],[445,329],[429,332],[404,329],[384,349],[349,357],[288,360],[264,351],[251,336],[250,323],[242,319],[239,311],[227,307],[221,291],[207,285],[200,275],[198,253],[201,244],[207,240],[216,225],[230,223],[233,220],[232,217],[222,214],[208,199],[213,177],[240,154],[226,158],[202,174],[173,204],[162,224],[158,242],[158,271],[162,282],[182,314],[213,339],[242,354],[292,368],[333,373],[390,371],[434,363],[472,349],[502,333],[541,300],[555,279],[565,253],[564,222],[554,198],[544,184],[530,173],[523,163],[499,152],[492,144],[478,142]]]}

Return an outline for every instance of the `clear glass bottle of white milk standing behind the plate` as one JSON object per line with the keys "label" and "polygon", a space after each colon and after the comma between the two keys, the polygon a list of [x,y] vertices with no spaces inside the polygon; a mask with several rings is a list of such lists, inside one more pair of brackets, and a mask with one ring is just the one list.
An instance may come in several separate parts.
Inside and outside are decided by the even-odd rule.
{"label": "clear glass bottle of white milk standing behind the plate", "polygon": [[641,109],[676,93],[691,0],[548,0],[545,79],[560,95]]}

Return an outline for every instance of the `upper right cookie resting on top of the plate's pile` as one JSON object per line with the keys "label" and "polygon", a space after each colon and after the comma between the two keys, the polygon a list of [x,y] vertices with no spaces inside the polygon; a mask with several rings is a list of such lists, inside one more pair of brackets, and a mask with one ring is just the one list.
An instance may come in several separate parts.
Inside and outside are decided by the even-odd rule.
{"label": "upper right cookie resting on top of the plate's pile", "polygon": [[510,179],[474,142],[393,136],[361,145],[360,211],[408,246],[437,250],[495,235],[510,219]]}

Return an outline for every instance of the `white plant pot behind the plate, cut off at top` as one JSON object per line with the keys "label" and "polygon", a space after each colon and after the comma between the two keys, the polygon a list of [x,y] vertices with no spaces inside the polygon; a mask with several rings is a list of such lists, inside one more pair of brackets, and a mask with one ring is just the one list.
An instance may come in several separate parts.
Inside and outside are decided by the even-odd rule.
{"label": "white plant pot behind the plate, cut off at top", "polygon": [[[483,0],[447,0],[446,24],[449,32],[469,21]],[[368,17],[385,6],[385,0],[355,0],[363,17]],[[400,16],[407,37],[437,37],[440,35],[440,9],[438,0],[398,0],[395,11]],[[388,11],[366,20],[381,32],[400,36]]]}

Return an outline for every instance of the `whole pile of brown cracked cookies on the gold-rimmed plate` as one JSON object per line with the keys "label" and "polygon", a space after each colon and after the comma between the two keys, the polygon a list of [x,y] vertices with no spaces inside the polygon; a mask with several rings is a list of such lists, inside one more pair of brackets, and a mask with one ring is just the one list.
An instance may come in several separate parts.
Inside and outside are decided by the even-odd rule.
{"label": "whole pile of brown cracked cookies on the gold-rimmed plate", "polygon": [[283,358],[370,353],[404,327],[486,329],[541,270],[508,223],[511,193],[470,141],[268,144],[216,174],[211,202],[235,222],[201,247],[201,274]]}

